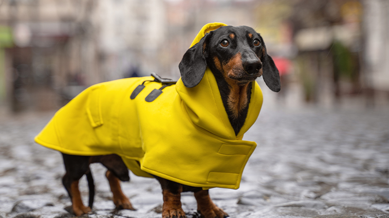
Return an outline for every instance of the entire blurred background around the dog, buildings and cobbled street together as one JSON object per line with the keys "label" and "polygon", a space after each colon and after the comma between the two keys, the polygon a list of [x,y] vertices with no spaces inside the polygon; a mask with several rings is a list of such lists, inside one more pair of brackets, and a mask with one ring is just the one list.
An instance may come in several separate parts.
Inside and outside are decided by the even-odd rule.
{"label": "entire blurred background around the dog, buildings and cobbled street together", "polygon": [[[282,90],[264,92],[238,190],[212,189],[232,217],[389,217],[389,1],[0,0],[0,217],[71,217],[60,153],[33,142],[56,110],[114,79],[179,78],[206,23],[261,33]],[[132,175],[138,211],[115,211],[92,166],[86,217],[160,217],[155,179]],[[87,201],[86,180],[80,185]],[[183,209],[197,217],[193,194]]]}

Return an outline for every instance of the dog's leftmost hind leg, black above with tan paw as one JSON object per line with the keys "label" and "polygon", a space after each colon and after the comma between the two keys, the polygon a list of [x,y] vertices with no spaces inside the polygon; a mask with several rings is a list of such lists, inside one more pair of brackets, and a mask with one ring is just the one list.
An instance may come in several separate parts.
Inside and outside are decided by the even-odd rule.
{"label": "dog's leftmost hind leg, black above with tan paw", "polygon": [[[81,193],[78,188],[79,180],[84,174],[90,174],[89,176],[91,176],[89,169],[90,157],[68,154],[62,155],[64,158],[64,165],[66,170],[66,173],[62,178],[62,183],[65,186],[65,189],[71,199],[73,213],[75,213],[77,216],[80,216],[91,211],[90,207],[86,207],[82,203]],[[89,192],[90,191],[91,190],[89,190]],[[92,193],[94,193],[94,190],[92,190]],[[93,198],[94,196],[91,197]],[[93,199],[89,199],[89,203],[90,202],[93,202]]]}

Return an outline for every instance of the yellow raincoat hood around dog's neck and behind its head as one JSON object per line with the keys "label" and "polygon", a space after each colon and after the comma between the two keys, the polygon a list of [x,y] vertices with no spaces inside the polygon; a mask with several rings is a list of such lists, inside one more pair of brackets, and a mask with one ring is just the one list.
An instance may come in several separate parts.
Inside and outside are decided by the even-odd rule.
{"label": "yellow raincoat hood around dog's neck and behind its head", "polygon": [[[209,23],[201,28],[196,35],[190,47],[194,46],[205,36],[206,33],[216,30],[221,26],[227,26],[224,23]],[[238,135],[235,132],[228,119],[227,112],[221,101],[219,89],[212,71],[207,67],[205,76],[201,82],[192,88],[183,85],[181,78],[177,82],[176,90],[182,101],[185,103],[188,114],[196,125],[212,132],[223,138],[228,139],[242,139],[243,134],[246,133],[254,124],[258,117],[262,106],[262,90],[260,86],[253,82],[253,96],[251,98],[249,112],[247,119]],[[255,89],[257,92],[255,92]],[[207,107],[207,110],[204,110]]]}

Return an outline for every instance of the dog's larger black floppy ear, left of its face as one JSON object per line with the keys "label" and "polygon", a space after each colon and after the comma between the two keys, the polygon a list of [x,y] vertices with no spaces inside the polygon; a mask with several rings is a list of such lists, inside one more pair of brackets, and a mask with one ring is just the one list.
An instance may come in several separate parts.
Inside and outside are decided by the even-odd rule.
{"label": "dog's larger black floppy ear, left of its face", "polygon": [[206,47],[212,32],[207,33],[197,44],[185,52],[178,65],[183,84],[192,88],[200,83],[207,68]]}

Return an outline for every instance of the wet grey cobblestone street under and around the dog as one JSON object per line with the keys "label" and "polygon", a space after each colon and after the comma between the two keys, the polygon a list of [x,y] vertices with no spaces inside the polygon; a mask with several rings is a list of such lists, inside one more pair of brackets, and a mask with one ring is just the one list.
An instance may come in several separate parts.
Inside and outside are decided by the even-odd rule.
{"label": "wet grey cobblestone street under and around the dog", "polygon": [[[72,217],[62,157],[33,142],[53,113],[0,117],[0,218]],[[231,217],[389,217],[389,113],[264,108],[245,135],[257,148],[238,190],[212,189]],[[122,183],[137,211],[115,211],[105,168],[92,165],[96,197],[83,217],[161,217],[155,179]],[[80,183],[84,203],[87,185]],[[187,216],[197,217],[192,193]]]}

